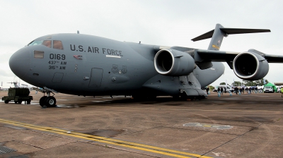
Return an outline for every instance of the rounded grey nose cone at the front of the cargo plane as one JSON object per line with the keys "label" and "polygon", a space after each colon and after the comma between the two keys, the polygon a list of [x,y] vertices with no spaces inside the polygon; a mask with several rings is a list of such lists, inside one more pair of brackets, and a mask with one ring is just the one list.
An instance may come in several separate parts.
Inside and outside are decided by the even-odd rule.
{"label": "rounded grey nose cone at the front of the cargo plane", "polygon": [[23,78],[30,68],[30,51],[26,47],[16,51],[9,60],[9,66],[18,78]]}

